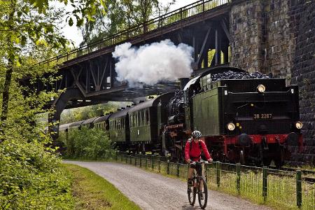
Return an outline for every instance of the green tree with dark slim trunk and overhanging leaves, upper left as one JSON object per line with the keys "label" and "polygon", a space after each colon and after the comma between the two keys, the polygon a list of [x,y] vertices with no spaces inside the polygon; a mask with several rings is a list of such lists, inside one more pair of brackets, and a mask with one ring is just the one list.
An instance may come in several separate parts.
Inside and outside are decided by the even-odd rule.
{"label": "green tree with dark slim trunk and overhanging leaves, upper left", "polygon": [[[68,3],[68,0],[59,0]],[[52,0],[1,0],[0,1],[0,48],[1,48],[1,71],[4,71],[3,89],[1,92],[1,125],[0,130],[3,134],[5,122],[8,118],[8,104],[10,101],[10,87],[13,79],[16,79],[14,72],[20,70],[23,62],[31,62],[31,55],[38,54],[38,51],[45,46],[45,50],[56,50],[58,52],[65,47],[67,41],[64,36],[59,34],[57,27],[64,15],[66,15],[69,25],[73,25],[76,19],[77,26],[83,24],[84,20],[93,20],[95,14],[95,4],[99,3],[98,10],[104,13],[102,6],[104,0],[79,0],[74,3],[73,12],[64,14],[62,10],[55,10],[50,6]],[[50,52],[52,52],[50,51]],[[34,59],[36,63],[40,60]],[[43,73],[43,69],[29,68],[20,71],[19,76],[34,76],[38,71]],[[3,72],[1,72],[3,73]]]}

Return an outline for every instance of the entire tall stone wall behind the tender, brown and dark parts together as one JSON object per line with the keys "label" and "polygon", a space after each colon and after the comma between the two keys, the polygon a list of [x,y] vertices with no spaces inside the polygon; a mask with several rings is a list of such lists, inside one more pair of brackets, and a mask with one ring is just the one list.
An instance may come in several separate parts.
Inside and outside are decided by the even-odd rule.
{"label": "entire tall stone wall behind the tender, brown and dark parts together", "polygon": [[230,13],[231,66],[272,73],[300,86],[304,150],[294,165],[315,165],[315,1],[234,0]]}

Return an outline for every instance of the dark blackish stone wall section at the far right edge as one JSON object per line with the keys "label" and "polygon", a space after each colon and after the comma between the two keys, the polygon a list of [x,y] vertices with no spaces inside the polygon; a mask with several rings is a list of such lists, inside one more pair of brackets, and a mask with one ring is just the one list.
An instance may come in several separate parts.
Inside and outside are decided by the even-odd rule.
{"label": "dark blackish stone wall section at the far right edge", "polygon": [[303,151],[293,157],[293,164],[304,161],[315,165],[315,3],[297,3],[291,12],[295,15],[293,22],[296,22],[296,18],[300,19],[296,34],[292,83],[300,88],[300,118],[304,123]]}

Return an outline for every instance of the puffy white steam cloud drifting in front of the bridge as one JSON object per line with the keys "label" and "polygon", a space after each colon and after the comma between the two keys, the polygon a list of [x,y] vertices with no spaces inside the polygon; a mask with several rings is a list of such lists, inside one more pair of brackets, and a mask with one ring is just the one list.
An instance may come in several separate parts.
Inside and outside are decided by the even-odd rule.
{"label": "puffy white steam cloud drifting in front of the bridge", "polygon": [[130,87],[141,87],[141,84],[154,85],[161,81],[175,81],[189,77],[193,72],[193,48],[184,43],[178,46],[166,39],[160,43],[132,48],[131,43],[118,45],[113,57],[117,80],[127,81]]}

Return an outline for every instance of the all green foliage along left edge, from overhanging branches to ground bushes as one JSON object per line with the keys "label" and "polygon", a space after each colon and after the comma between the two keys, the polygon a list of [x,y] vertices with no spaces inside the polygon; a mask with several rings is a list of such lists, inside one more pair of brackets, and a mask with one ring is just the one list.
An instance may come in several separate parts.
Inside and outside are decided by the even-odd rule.
{"label": "all green foliage along left edge, from overhanging branches to ground bushes", "polygon": [[56,94],[20,82],[55,71],[34,64],[64,50],[67,41],[58,27],[64,15],[69,24],[71,17],[80,24],[92,18],[96,1],[101,0],[79,0],[73,13],[64,14],[50,6],[52,0],[0,0],[0,209],[73,208],[70,176],[47,147],[49,134],[35,123],[35,114]]}

